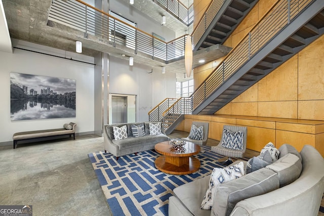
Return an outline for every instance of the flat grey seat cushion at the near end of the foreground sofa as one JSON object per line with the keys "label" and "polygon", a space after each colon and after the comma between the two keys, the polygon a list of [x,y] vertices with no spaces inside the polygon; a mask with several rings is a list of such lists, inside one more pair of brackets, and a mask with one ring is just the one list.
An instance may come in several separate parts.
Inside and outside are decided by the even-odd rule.
{"label": "flat grey seat cushion at the near end of the foreground sofa", "polygon": [[200,209],[201,200],[204,198],[209,180],[210,176],[206,176],[201,179],[183,184],[173,190],[175,196],[193,215],[211,215],[210,210]]}

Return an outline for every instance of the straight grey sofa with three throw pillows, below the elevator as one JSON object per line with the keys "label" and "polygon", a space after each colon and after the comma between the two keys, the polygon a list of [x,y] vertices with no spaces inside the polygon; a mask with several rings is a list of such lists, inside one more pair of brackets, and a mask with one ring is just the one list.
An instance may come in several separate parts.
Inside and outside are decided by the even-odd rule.
{"label": "straight grey sofa with three throw pillows, below the elevator", "polygon": [[[145,136],[134,137],[132,134],[131,125],[139,125],[144,123]],[[134,123],[121,123],[121,124],[106,124],[104,125],[104,150],[116,156],[137,153],[141,151],[154,149],[155,144],[169,141],[170,138],[165,134],[162,127],[162,134],[149,135],[149,123],[157,122],[134,122]],[[127,125],[128,138],[123,140],[115,140],[113,136],[113,126],[121,127]]]}

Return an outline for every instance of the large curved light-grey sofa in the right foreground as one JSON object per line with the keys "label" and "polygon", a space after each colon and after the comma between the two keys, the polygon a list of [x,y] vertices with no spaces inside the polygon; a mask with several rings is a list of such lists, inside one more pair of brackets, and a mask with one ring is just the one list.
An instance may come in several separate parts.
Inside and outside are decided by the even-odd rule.
{"label": "large curved light-grey sofa in the right foreground", "polygon": [[323,157],[309,145],[300,154],[287,144],[279,151],[276,162],[218,185],[211,210],[200,209],[210,176],[175,188],[169,215],[317,215],[324,193]]}

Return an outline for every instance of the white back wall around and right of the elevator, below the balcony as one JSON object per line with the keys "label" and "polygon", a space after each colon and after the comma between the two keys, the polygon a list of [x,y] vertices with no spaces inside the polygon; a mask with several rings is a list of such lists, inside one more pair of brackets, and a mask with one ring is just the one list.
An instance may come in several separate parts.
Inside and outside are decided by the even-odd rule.
{"label": "white back wall around and right of the elevator, below the balcony", "polygon": [[137,121],[148,121],[147,113],[165,98],[176,96],[176,74],[110,57],[110,94],[137,95]]}

